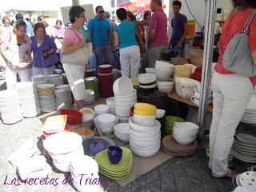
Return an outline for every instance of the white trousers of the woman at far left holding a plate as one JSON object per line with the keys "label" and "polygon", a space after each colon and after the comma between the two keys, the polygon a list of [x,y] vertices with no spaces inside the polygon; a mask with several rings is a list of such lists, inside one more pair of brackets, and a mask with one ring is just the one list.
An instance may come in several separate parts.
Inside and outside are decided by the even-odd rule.
{"label": "white trousers of the woman at far left holding a plate", "polygon": [[29,70],[10,70],[6,67],[6,85],[8,90],[14,90],[14,86],[17,84],[17,74],[21,79],[21,82],[31,82]]}

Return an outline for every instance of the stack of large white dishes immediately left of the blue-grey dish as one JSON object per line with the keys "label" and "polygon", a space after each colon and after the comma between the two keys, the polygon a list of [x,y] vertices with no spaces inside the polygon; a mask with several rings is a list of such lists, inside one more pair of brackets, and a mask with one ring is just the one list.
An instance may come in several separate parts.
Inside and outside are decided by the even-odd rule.
{"label": "stack of large white dishes immediately left of the blue-grey dish", "polygon": [[54,166],[64,172],[70,172],[71,161],[84,154],[82,137],[68,131],[51,134],[43,146],[53,158]]}

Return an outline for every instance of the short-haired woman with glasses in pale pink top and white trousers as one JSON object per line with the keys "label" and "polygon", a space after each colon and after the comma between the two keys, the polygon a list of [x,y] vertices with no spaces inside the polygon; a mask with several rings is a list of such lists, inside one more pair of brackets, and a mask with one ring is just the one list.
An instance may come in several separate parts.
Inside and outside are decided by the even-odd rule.
{"label": "short-haired woman with glasses in pale pink top and white trousers", "polygon": [[[69,16],[72,25],[65,31],[62,53],[71,54],[80,48],[86,46],[85,38],[79,30],[86,21],[85,10],[81,6],[72,6]],[[81,109],[84,106],[86,96],[86,86],[84,82],[84,74],[86,70],[86,62],[84,64],[62,63],[66,73],[66,78],[70,84],[76,107]]]}

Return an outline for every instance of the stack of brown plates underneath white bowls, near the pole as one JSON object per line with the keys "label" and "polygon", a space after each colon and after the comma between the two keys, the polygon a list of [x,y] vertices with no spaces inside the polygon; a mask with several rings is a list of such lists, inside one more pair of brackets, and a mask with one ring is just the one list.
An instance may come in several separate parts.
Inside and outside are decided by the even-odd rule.
{"label": "stack of brown plates underneath white bowls, near the pole", "polygon": [[166,154],[174,156],[188,156],[190,154],[194,154],[197,150],[197,146],[197,140],[194,140],[194,142],[190,142],[190,144],[187,145],[180,145],[175,141],[172,134],[168,134],[162,138],[162,150]]}

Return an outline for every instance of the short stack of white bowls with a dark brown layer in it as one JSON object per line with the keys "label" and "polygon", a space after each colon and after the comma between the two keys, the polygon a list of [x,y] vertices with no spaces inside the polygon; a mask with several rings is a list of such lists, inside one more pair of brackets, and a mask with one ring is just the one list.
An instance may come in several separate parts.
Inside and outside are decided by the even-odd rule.
{"label": "short stack of white bowls with a dark brown layer in it", "polygon": [[142,89],[153,89],[157,86],[155,74],[138,74],[139,87]]}

